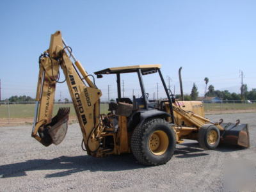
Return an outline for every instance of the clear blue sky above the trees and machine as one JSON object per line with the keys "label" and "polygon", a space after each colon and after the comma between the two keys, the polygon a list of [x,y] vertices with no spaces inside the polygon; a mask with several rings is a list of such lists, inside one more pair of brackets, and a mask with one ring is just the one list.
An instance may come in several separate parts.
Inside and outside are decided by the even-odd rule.
{"label": "clear blue sky above the trees and machine", "polygon": [[[77,60],[89,74],[108,67],[161,64],[170,88],[184,93],[193,83],[204,95],[204,78],[216,90],[239,93],[241,75],[256,88],[256,1],[0,1],[1,98],[35,98],[38,56],[50,36],[61,30]],[[61,76],[63,78],[63,74]],[[143,76],[152,98],[164,97],[156,74]],[[141,93],[138,77],[121,76],[124,95]],[[116,77],[96,79],[102,99],[116,97]],[[168,84],[168,82],[167,82]],[[67,84],[58,84],[56,99],[70,98]]]}

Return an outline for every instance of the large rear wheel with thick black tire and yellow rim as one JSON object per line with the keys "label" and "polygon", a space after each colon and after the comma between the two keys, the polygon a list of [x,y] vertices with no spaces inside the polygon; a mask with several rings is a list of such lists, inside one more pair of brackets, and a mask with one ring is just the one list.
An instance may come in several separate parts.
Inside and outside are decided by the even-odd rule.
{"label": "large rear wheel with thick black tire and yellow rim", "polygon": [[141,164],[160,165],[172,158],[176,147],[172,125],[163,119],[154,118],[134,129],[131,149]]}

